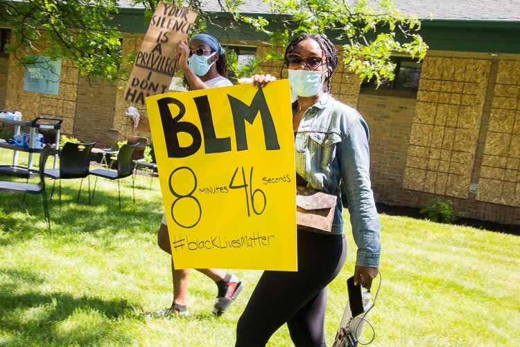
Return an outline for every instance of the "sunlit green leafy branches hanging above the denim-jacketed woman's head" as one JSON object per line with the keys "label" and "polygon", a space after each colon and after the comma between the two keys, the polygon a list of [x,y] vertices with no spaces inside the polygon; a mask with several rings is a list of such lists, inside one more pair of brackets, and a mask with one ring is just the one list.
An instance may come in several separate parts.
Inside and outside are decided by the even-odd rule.
{"label": "sunlit green leafy branches hanging above the denim-jacketed woman's head", "polygon": [[[265,0],[264,0],[265,1]],[[428,45],[419,35],[419,19],[404,15],[390,0],[354,3],[333,0],[270,1],[272,12],[279,14],[281,27],[271,32],[265,18],[241,19],[270,36],[273,47],[286,46],[290,33],[325,33],[331,40],[346,40],[343,63],[361,79],[382,81],[395,78],[390,57],[405,53],[422,60]],[[375,9],[374,9],[375,8]],[[281,14],[291,14],[282,17]],[[401,42],[402,39],[402,42]],[[268,60],[281,60],[279,49],[272,49]]]}

